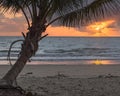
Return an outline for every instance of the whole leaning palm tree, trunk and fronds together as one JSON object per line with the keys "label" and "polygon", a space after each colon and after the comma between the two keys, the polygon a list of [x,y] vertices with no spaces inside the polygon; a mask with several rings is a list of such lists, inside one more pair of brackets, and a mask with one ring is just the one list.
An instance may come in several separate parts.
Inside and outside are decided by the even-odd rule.
{"label": "whole leaning palm tree, trunk and fronds together", "polygon": [[[84,1],[84,2],[83,2]],[[86,0],[87,2],[87,0]],[[49,25],[78,27],[117,14],[119,0],[94,0],[86,4],[85,0],[0,0],[3,13],[22,12],[28,24],[28,32],[23,34],[20,56],[14,66],[1,79],[0,85],[11,85],[26,62],[38,50],[38,42]]]}

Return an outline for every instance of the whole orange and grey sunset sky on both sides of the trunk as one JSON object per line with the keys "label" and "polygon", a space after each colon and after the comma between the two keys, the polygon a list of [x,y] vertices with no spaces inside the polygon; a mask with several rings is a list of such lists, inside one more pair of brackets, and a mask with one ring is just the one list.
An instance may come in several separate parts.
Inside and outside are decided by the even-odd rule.
{"label": "whole orange and grey sunset sky on both sides of the trunk", "polygon": [[[0,36],[21,36],[21,32],[27,32],[26,24],[21,14],[0,14]],[[45,33],[49,36],[120,36],[120,20],[114,17],[80,28],[49,26]]]}

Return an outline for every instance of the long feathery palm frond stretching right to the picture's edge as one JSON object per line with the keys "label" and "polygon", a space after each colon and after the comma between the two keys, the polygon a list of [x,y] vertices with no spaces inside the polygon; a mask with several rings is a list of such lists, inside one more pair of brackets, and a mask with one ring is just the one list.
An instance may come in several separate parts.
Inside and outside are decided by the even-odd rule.
{"label": "long feathery palm frond stretching right to the picture's edge", "polygon": [[57,14],[59,15],[57,20],[65,26],[86,25],[118,13],[120,13],[119,0],[94,0],[83,8],[73,9],[64,15]]}

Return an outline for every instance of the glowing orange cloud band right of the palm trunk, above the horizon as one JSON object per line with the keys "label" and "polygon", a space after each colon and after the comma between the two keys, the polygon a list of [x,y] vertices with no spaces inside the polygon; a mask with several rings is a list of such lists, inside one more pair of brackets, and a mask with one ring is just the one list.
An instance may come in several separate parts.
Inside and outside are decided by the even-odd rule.
{"label": "glowing orange cloud band right of the palm trunk, above the horizon", "polygon": [[115,26],[116,20],[95,22],[89,26],[76,28],[48,27],[49,36],[120,36],[119,29]]}

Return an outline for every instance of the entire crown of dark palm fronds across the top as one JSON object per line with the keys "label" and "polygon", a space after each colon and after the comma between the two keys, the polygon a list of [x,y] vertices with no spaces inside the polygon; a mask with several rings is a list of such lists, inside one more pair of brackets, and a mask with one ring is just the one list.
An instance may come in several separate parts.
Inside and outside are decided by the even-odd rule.
{"label": "entire crown of dark palm fronds across the top", "polygon": [[[119,0],[94,0],[86,4],[87,1],[0,0],[0,8],[4,9],[4,12],[8,10],[14,13],[22,11],[29,26],[29,15],[31,15],[32,22],[44,22],[47,19],[50,22],[48,25],[58,20],[62,25],[76,26],[103,19],[120,11]],[[40,20],[37,21],[37,18]]]}

